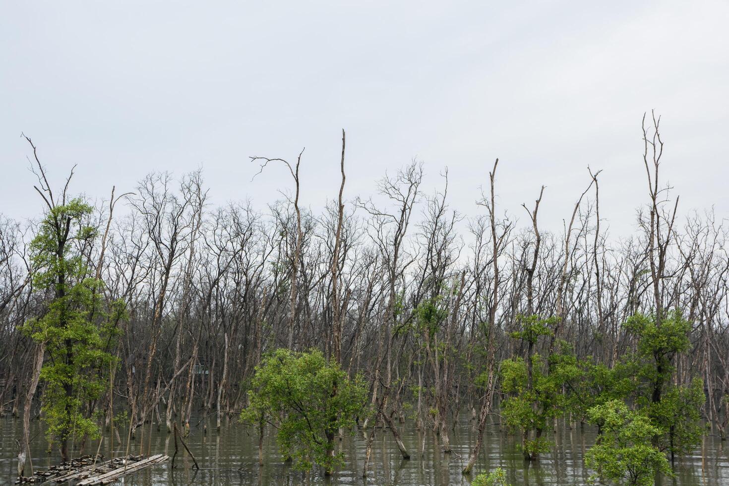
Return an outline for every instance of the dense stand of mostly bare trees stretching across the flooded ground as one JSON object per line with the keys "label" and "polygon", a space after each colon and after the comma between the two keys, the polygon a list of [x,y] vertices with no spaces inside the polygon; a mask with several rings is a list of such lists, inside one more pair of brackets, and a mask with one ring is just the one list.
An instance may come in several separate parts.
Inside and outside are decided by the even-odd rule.
{"label": "dense stand of mostly bare trees stretching across the flooded ground", "polygon": [[[335,388],[362,386],[355,420],[384,423],[405,458],[403,423],[436,431],[448,453],[467,414],[478,431],[467,472],[495,412],[529,460],[549,449],[558,418],[593,423],[603,450],[589,460],[601,471],[616,457],[605,447],[641,434],[671,456],[702,432],[682,424],[705,420],[725,439],[728,227],[712,211],[679,216],[660,179],[659,118],[644,118],[643,138],[647,191],[636,234],[621,240],[604,230],[599,171],[585,173],[556,232],[539,224],[549,188],[523,205],[526,225],[497,204],[499,186],[518,183],[497,178],[498,160],[474,216],[449,206],[448,171],[424,193],[418,162],[373,197],[346,198],[344,133],[341,184],[319,213],[300,205],[303,152],[252,157],[259,178],[274,164],[290,172],[289,196],[265,209],[211,206],[200,171],[150,173],[97,207],[72,195],[72,173],[49,181],[28,138],[45,211],[28,224],[0,216],[2,409],[23,418],[23,450],[40,414],[64,459],[102,427],[104,447],[149,453],[152,427],[189,433],[198,413],[220,428],[246,410],[265,426],[283,402],[251,400],[276,385],[266,360],[285,348],[287,373],[308,356],[336,364]],[[321,353],[302,354],[312,349]],[[351,425],[350,412],[322,419],[327,434]],[[636,436],[621,438],[625,423]],[[319,454],[333,457],[328,446]]]}

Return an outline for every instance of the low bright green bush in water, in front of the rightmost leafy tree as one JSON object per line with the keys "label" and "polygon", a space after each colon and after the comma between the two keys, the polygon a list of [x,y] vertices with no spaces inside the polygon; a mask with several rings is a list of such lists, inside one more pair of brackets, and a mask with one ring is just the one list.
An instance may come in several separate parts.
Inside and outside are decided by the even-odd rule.
{"label": "low bright green bush in water, in front of the rightmost leafy tree", "polygon": [[672,474],[666,455],[652,444],[660,430],[646,415],[619,400],[597,405],[588,415],[601,426],[599,442],[585,455],[587,466],[596,471],[593,481],[652,486],[657,474]]}

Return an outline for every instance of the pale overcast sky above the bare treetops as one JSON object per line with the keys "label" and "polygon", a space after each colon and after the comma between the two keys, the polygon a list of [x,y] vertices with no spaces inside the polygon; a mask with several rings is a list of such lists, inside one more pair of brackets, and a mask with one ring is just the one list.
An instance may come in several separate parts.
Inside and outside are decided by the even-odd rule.
{"label": "pale overcast sky above the bare treetops", "polygon": [[448,166],[475,215],[500,158],[499,204],[542,184],[558,230],[586,167],[601,213],[631,232],[645,200],[640,121],[663,115],[663,174],[681,212],[729,216],[728,1],[15,1],[0,12],[0,212],[41,211],[25,132],[61,184],[90,197],[148,171],[202,167],[215,204],[280,197],[283,168],[251,181],[250,155],[295,158],[302,201],[370,195],[385,171]]}

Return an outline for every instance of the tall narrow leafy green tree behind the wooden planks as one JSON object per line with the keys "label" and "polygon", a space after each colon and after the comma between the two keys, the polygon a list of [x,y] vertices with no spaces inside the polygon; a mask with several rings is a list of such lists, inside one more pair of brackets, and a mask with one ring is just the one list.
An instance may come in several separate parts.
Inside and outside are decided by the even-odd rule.
{"label": "tall narrow leafy green tree behind the wooden planks", "polygon": [[68,460],[69,439],[98,438],[95,401],[106,390],[114,362],[109,345],[125,311],[120,302],[105,308],[103,283],[90,277],[86,255],[96,231],[87,220],[93,208],[78,198],[50,201],[30,246],[34,286],[47,292],[50,302],[22,330],[45,344],[42,418],[49,441],[58,442]]}

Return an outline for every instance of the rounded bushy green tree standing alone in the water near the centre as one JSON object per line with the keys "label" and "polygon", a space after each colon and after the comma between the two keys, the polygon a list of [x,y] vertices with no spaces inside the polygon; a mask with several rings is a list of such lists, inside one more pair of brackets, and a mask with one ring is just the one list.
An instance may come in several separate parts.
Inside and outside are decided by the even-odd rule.
{"label": "rounded bushy green tree standing alone in the water near the centre", "polygon": [[321,351],[278,349],[256,367],[241,420],[260,426],[262,418],[276,427],[281,454],[297,469],[308,471],[316,463],[332,474],[343,463],[335,436],[340,428],[354,428],[366,394],[359,377],[350,380]]}

